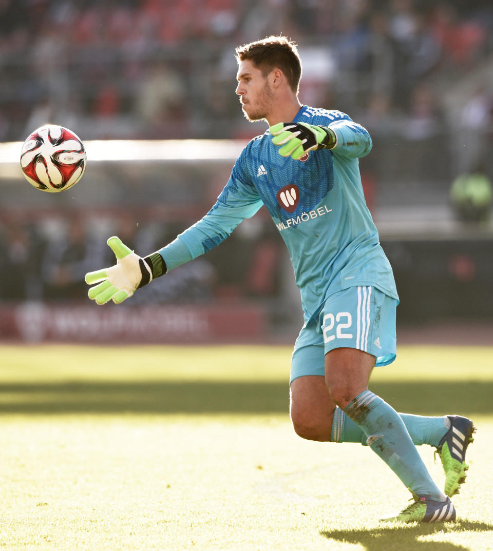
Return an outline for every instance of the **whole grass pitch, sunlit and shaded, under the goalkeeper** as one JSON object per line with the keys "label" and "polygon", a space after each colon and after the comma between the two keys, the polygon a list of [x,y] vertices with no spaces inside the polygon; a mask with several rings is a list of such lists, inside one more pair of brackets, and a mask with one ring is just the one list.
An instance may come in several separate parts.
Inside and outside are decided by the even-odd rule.
{"label": "whole grass pitch, sunlit and shaded, under the goalkeeper", "polygon": [[401,347],[374,374],[399,410],[479,426],[458,522],[425,526],[378,522],[409,493],[371,450],[294,435],[290,354],[0,347],[0,548],[493,550],[493,348]]}

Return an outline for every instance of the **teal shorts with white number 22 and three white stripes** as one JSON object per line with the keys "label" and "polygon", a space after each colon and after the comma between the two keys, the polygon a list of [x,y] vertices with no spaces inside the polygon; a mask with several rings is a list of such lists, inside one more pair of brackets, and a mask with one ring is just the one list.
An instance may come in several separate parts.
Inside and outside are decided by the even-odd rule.
{"label": "teal shorts with white number 22 and three white stripes", "polygon": [[294,343],[290,383],[303,375],[323,376],[325,354],[334,348],[356,348],[375,356],[375,365],[391,364],[397,304],[374,287],[350,287],[329,296]]}

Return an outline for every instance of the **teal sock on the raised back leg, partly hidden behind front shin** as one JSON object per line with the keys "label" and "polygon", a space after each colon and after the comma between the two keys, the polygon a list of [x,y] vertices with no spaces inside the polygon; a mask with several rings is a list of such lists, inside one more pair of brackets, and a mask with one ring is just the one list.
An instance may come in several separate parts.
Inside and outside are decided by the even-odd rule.
{"label": "teal sock on the raised back leg, partly hidden behind front shin", "polygon": [[[415,446],[428,444],[438,446],[443,436],[449,429],[448,417],[425,417],[424,415],[412,415],[410,413],[399,413],[403,420],[412,443]],[[367,436],[364,431],[339,407],[335,408],[332,422],[332,442],[361,442],[366,446]]]}

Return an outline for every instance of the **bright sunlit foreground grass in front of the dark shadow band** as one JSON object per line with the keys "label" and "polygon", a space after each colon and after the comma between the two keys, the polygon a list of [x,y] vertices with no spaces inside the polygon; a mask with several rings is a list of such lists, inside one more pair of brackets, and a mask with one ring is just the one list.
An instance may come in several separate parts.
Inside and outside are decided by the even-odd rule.
{"label": "bright sunlit foreground grass in front of the dark shadow band", "polygon": [[[0,548],[486,551],[493,419],[477,422],[459,522],[389,527],[378,519],[409,493],[385,464],[301,440],[287,415],[8,416]],[[420,452],[442,484],[432,449]]]}

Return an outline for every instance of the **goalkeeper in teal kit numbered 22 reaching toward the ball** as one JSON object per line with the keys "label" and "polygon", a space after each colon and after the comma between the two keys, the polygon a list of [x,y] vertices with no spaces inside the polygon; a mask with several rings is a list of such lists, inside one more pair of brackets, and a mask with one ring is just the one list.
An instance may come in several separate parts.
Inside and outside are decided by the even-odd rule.
{"label": "goalkeeper in teal kit numbered 22 reaching toward the ball", "polygon": [[[372,147],[365,128],[340,111],[298,100],[301,62],[282,36],[238,47],[236,93],[250,121],[269,129],[234,164],[216,204],[169,245],[141,258],[117,237],[115,266],[86,275],[89,298],[116,304],[170,269],[219,245],[262,205],[290,253],[304,325],[291,362],[291,419],[309,440],[368,445],[414,500],[393,517],[450,521],[450,496],[464,482],[473,423],[464,417],[398,414],[368,390],[374,366],[395,359],[398,295],[392,268],[366,206],[358,158]],[[415,445],[435,446],[444,491]]]}

